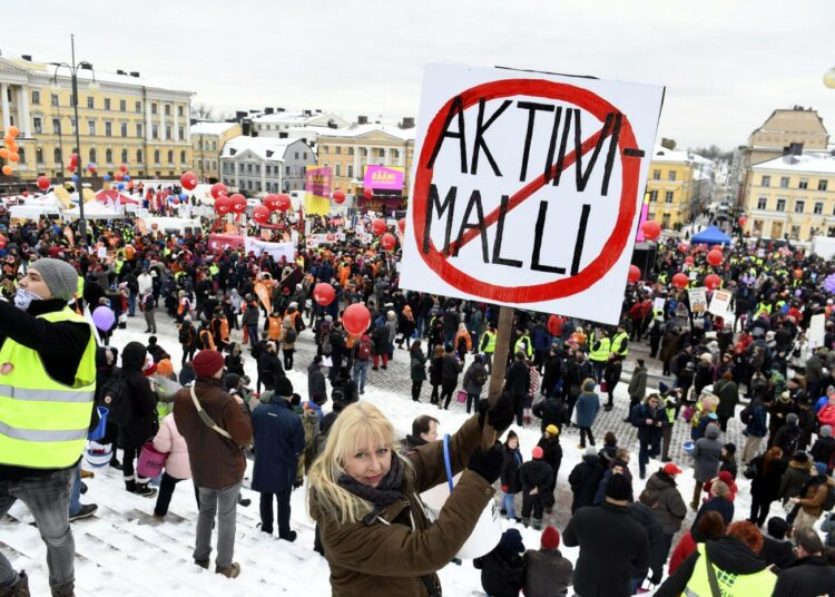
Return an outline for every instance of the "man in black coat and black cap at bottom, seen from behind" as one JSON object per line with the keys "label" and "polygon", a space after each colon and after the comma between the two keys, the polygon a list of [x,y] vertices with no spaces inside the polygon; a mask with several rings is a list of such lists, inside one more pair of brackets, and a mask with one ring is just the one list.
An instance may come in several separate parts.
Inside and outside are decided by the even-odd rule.
{"label": "man in black coat and black cap at bottom, seen from behind", "polygon": [[629,512],[631,486],[622,474],[606,483],[606,501],[580,508],[571,517],[562,542],[580,546],[574,590],[583,597],[628,597],[632,578],[647,574],[650,564],[647,531]]}

